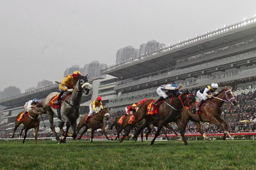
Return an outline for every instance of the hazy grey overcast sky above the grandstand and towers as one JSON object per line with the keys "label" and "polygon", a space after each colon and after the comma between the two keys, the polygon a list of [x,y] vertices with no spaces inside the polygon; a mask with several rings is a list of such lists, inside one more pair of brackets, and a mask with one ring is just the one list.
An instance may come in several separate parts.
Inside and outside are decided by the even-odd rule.
{"label": "hazy grey overcast sky above the grandstand and towers", "polygon": [[118,49],[173,45],[252,18],[256,0],[0,0],[0,91],[61,81],[72,65],[116,62]]}

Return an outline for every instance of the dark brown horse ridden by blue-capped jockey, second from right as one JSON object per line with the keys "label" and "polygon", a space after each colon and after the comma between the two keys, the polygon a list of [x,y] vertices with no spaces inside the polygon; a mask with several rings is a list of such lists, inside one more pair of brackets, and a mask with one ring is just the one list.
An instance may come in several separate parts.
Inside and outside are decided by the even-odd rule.
{"label": "dark brown horse ridden by blue-capped jockey, second from right", "polygon": [[[153,99],[148,99],[145,102],[143,102],[137,110],[137,114],[135,117],[134,122],[137,123],[141,121],[142,119],[146,119],[145,123],[143,123],[140,128],[138,129],[137,133],[134,135],[134,138],[136,139],[138,137],[138,134],[142,129],[147,127],[151,122],[153,121],[154,115],[147,114],[148,109],[152,107]],[[182,93],[180,95],[172,95],[169,96],[158,105],[158,113],[159,113],[159,125],[157,128],[157,132],[155,134],[154,139],[151,141],[151,145],[154,144],[155,139],[157,136],[159,136],[160,131],[164,125],[167,125],[170,122],[175,122],[180,130],[180,134],[182,136],[182,139],[184,141],[184,144],[187,145],[188,142],[184,136],[183,131],[183,125],[182,125],[182,108],[188,107],[190,110],[192,110],[193,113],[196,113],[196,99],[193,93],[190,93],[188,89],[186,89],[185,93]],[[122,142],[124,138],[128,135],[126,133],[124,137],[120,140]]]}

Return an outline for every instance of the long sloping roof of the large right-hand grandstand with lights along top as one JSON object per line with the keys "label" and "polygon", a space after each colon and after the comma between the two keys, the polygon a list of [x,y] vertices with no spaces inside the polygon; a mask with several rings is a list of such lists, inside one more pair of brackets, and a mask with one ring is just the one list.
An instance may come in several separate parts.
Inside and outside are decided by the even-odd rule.
{"label": "long sloping roof of the large right-hand grandstand with lights along top", "polygon": [[[245,38],[255,37],[256,36],[256,19],[250,24],[246,24],[239,28],[234,27],[235,24],[227,26],[230,28],[228,31],[221,32],[221,34],[215,34],[214,36],[208,36],[210,33],[204,34],[206,38],[196,40],[195,42],[180,46],[178,48],[173,48],[171,50],[161,51],[157,55],[142,56],[140,59],[132,62],[121,63],[119,66],[114,65],[107,69],[101,71],[102,74],[112,75],[122,79],[132,78],[134,76],[145,75],[149,70],[151,73],[157,72],[163,69],[170,69],[175,66],[178,59],[183,59],[190,57],[191,54],[196,55],[211,49],[216,49],[217,47],[222,47]],[[243,22],[241,22],[243,23]],[[249,22],[248,22],[249,23]],[[239,23],[237,23],[238,25]],[[217,32],[217,31],[215,31]],[[214,32],[212,32],[214,33]],[[202,35],[202,36],[204,36]],[[202,37],[201,36],[201,37]],[[200,37],[200,36],[198,36]],[[185,41],[184,41],[185,42]],[[181,44],[182,42],[180,42]],[[165,49],[168,49],[166,47]]]}

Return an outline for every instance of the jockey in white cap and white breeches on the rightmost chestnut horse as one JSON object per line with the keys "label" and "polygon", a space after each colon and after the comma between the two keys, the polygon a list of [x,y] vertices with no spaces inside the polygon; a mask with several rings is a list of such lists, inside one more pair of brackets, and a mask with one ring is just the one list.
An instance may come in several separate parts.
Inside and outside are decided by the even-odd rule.
{"label": "jockey in white cap and white breeches on the rightmost chestnut horse", "polygon": [[200,107],[206,101],[207,98],[211,98],[212,94],[219,88],[217,83],[212,83],[211,86],[204,87],[197,91],[196,96],[201,99],[198,103],[198,111],[200,111]]}

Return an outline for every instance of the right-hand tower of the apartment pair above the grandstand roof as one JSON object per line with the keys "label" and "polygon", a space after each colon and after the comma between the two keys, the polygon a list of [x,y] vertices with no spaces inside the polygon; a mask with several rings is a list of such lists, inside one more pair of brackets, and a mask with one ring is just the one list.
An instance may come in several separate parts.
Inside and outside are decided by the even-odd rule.
{"label": "right-hand tower of the apartment pair above the grandstand roof", "polygon": [[165,44],[157,42],[156,40],[151,40],[148,41],[146,44],[142,44],[140,45],[140,52],[139,52],[139,56],[141,56],[142,54],[149,54],[149,53],[153,53],[154,51],[158,51],[161,49],[163,49],[165,46]]}

